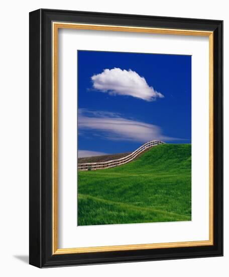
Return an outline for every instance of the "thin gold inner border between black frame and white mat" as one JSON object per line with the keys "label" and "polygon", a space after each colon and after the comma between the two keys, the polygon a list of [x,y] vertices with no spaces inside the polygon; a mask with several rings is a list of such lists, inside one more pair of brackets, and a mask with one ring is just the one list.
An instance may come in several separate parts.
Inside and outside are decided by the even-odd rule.
{"label": "thin gold inner border between black frame and white mat", "polygon": [[[95,246],[58,249],[58,29],[103,30],[135,33],[191,35],[209,37],[209,239],[152,244]],[[213,245],[213,32],[129,27],[78,23],[52,23],[52,251],[53,254],[74,254],[121,250],[159,249]]]}

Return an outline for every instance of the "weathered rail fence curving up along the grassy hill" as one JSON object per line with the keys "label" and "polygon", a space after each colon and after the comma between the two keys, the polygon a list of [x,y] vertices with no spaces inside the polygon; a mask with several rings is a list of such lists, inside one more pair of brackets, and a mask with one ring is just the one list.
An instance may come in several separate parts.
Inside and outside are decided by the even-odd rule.
{"label": "weathered rail fence curving up along the grassy hill", "polygon": [[151,141],[148,143],[145,143],[144,145],[140,146],[137,150],[135,150],[133,153],[129,154],[126,157],[116,159],[116,160],[110,160],[106,162],[98,162],[98,163],[82,163],[78,164],[78,170],[97,170],[97,169],[105,169],[110,167],[116,167],[120,165],[127,164],[131,162],[133,159],[135,159],[139,154],[144,152],[146,149],[149,149],[151,147],[164,144],[164,142],[161,141]]}

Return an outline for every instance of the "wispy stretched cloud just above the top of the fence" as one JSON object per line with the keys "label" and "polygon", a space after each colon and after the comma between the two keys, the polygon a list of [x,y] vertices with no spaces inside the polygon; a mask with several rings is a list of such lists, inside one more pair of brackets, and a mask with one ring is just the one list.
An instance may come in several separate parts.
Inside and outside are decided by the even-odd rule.
{"label": "wispy stretched cloud just above the top of the fence", "polygon": [[152,140],[179,140],[163,135],[162,129],[157,125],[124,118],[121,114],[87,109],[79,109],[78,128],[79,131],[93,130],[95,135],[112,141],[145,143]]}

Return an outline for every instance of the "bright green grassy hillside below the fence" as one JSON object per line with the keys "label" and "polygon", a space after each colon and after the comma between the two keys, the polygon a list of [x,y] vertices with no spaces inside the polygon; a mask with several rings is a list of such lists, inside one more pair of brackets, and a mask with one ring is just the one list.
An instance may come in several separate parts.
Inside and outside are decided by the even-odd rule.
{"label": "bright green grassy hillside below the fence", "polygon": [[109,169],[78,171],[78,225],[191,220],[191,145],[164,144]]}

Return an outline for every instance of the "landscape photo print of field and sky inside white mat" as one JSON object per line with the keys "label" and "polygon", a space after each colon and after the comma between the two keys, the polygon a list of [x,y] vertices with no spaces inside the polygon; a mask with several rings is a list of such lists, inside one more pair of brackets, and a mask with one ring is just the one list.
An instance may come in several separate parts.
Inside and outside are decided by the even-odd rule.
{"label": "landscape photo print of field and sky inside white mat", "polygon": [[190,221],[191,56],[77,55],[77,225]]}

